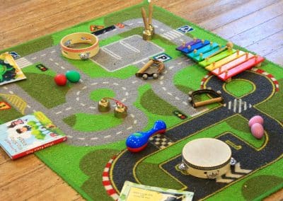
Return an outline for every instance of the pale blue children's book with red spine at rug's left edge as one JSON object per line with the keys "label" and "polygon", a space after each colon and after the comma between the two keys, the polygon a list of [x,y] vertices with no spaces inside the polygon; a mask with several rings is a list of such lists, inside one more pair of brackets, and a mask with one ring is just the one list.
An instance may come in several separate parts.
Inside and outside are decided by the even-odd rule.
{"label": "pale blue children's book with red spine at rug's left edge", "polygon": [[41,112],[0,125],[0,145],[11,159],[45,149],[66,139],[66,135]]}

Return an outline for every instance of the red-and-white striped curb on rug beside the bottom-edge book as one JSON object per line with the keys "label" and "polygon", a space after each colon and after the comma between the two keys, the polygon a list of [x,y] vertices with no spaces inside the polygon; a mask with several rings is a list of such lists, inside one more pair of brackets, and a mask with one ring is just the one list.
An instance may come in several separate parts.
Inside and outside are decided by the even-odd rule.
{"label": "red-and-white striped curb on rug beside the bottom-edge book", "polygon": [[112,166],[112,162],[115,160],[115,158],[116,156],[113,156],[112,159],[110,159],[108,163],[106,164],[103,174],[102,174],[102,184],[104,185],[104,188],[106,192],[108,193],[108,195],[110,195],[113,198],[113,200],[118,200],[119,195],[116,192],[116,190],[113,188],[111,181],[110,181],[110,177],[109,177],[110,167]]}

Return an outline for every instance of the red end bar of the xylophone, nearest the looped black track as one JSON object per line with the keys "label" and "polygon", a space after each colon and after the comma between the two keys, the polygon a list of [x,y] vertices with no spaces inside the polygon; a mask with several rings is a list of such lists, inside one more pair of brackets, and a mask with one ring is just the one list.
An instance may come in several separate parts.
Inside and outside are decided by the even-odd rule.
{"label": "red end bar of the xylophone, nearest the looped black track", "polygon": [[229,69],[225,71],[224,73],[220,74],[218,77],[219,79],[223,81],[229,81],[232,76],[235,76],[236,74],[241,73],[242,71],[246,71],[248,69],[251,69],[252,67],[260,64],[263,62],[265,59],[260,56],[255,56],[251,59],[248,59],[248,61],[243,62],[242,64],[234,67],[233,69]]}

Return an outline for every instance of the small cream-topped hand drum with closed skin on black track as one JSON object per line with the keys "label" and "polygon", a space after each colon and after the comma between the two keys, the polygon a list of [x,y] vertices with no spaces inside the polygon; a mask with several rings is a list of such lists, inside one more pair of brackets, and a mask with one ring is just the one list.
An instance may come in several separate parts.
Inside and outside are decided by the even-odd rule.
{"label": "small cream-topped hand drum with closed skin on black track", "polygon": [[180,169],[198,178],[216,178],[230,170],[231,149],[219,139],[194,139],[183,147]]}

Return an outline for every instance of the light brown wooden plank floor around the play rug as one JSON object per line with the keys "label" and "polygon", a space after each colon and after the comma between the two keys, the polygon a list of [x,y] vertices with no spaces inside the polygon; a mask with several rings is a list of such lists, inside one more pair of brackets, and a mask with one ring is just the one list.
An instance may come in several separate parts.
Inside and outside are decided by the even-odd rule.
{"label": "light brown wooden plank floor around the play rug", "polygon": [[[0,49],[139,2],[0,0]],[[163,0],[154,4],[283,66],[283,0]],[[0,150],[0,200],[83,199],[35,156],[11,161]],[[283,200],[283,190],[267,200]]]}

